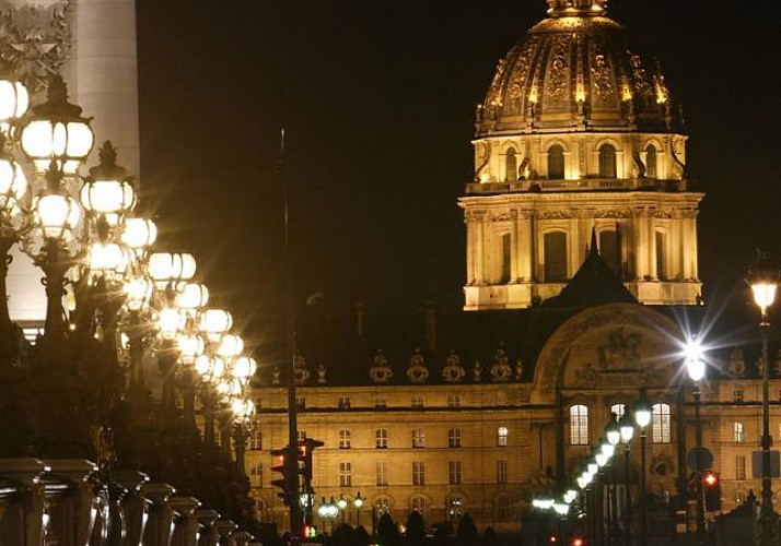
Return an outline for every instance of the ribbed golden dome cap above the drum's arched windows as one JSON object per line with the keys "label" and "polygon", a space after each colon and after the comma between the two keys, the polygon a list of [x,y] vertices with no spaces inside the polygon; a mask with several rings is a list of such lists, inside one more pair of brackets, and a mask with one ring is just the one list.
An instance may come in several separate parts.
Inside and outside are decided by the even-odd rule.
{"label": "ribbed golden dome cap above the drum's arched windows", "polygon": [[676,119],[654,59],[629,46],[606,0],[548,0],[548,17],[499,62],[478,138],[516,132],[669,131]]}

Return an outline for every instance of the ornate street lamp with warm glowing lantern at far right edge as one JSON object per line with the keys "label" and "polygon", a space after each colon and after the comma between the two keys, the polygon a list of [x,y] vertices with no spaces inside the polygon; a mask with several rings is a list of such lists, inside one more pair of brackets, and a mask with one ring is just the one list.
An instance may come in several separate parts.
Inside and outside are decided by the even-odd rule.
{"label": "ornate street lamp with warm glowing lantern at far right edge", "polygon": [[770,436],[770,396],[769,378],[770,361],[768,359],[768,334],[770,331],[770,320],[768,319],[768,308],[776,300],[776,290],[779,285],[779,271],[771,266],[769,257],[760,253],[757,265],[748,273],[748,283],[754,293],[754,301],[759,307],[759,334],[762,339],[762,505],[759,510],[759,533],[757,543],[759,545],[777,546],[779,544],[778,514],[773,511],[773,494],[770,477],[770,447],[772,436]]}

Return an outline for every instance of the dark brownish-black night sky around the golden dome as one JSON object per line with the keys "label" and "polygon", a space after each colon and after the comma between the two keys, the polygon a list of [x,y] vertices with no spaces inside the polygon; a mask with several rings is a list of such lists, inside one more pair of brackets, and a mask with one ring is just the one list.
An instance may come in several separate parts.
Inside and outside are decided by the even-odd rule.
{"label": "dark brownish-black night sky around the golden dome", "polygon": [[[468,8],[456,8],[466,3]],[[756,8],[753,5],[757,5]],[[781,251],[781,8],[615,0],[684,104],[706,295]],[[166,249],[255,327],[283,289],[283,180],[300,298],[461,304],[473,116],[544,0],[138,2],[142,180]],[[283,175],[279,131],[287,129]]]}

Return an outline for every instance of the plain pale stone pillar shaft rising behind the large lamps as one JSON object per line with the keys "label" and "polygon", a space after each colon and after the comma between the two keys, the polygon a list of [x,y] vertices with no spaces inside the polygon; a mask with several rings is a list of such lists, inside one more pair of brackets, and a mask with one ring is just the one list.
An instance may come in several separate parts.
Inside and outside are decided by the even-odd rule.
{"label": "plain pale stone pillar shaft rising behind the large lamps", "polygon": [[140,176],[136,1],[73,4],[71,95],[85,116],[94,116],[95,142],[110,140],[121,164]]}

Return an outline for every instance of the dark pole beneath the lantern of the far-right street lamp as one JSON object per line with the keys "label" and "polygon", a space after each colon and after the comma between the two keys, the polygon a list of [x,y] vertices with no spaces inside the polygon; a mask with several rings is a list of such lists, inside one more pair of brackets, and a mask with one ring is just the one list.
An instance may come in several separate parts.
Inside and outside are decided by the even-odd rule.
{"label": "dark pole beneath the lantern of the far-right street lamp", "polygon": [[773,511],[772,482],[770,478],[770,447],[773,439],[770,436],[770,363],[768,360],[768,333],[770,322],[766,311],[759,322],[759,334],[762,339],[762,505],[759,509],[758,544],[761,546],[777,546],[778,514]]}

